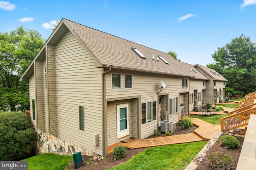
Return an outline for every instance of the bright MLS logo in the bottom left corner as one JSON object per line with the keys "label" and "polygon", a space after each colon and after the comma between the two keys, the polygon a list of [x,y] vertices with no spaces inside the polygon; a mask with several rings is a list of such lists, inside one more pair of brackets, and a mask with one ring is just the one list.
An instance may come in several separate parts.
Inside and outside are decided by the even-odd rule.
{"label": "bright MLS logo in the bottom left corner", "polygon": [[28,170],[28,161],[0,161],[0,170]]}

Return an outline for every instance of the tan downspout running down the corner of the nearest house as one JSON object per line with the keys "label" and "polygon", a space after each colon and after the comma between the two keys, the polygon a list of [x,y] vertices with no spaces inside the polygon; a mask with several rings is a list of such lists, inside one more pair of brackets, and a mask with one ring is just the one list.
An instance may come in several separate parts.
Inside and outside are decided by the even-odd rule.
{"label": "tan downspout running down the corner of the nearest house", "polygon": [[102,147],[103,147],[103,155],[102,156],[108,156],[108,143],[107,143],[107,102],[105,103],[105,99],[106,99],[106,91],[105,91],[105,88],[106,88],[106,84],[105,84],[105,79],[106,79],[106,76],[105,74],[110,72],[112,70],[112,68],[110,67],[109,70],[106,70],[104,72],[102,72],[102,92],[103,92],[103,98],[102,98],[102,108],[103,108],[103,111],[102,111],[102,127],[103,127],[103,131],[102,131]]}

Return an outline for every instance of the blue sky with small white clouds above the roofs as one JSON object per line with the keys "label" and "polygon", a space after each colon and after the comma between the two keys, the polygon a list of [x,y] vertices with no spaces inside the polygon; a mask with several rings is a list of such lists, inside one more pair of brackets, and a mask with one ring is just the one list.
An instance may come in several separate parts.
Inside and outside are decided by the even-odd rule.
{"label": "blue sky with small white clouds above the roofs", "polygon": [[62,18],[204,66],[242,33],[256,42],[256,0],[0,1],[1,33],[24,25],[48,39]]}

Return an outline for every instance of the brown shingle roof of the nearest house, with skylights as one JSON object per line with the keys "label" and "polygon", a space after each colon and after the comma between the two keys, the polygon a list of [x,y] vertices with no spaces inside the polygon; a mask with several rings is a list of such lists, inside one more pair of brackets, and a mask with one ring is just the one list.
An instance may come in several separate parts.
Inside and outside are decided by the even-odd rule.
{"label": "brown shingle roof of the nearest house, with skylights", "polygon": [[[80,37],[100,63],[105,67],[124,68],[146,72],[195,77],[208,80],[191,64],[176,61],[168,53],[145,47],[138,43],[98,31],[96,29],[63,19]],[[140,58],[131,48],[134,47],[142,53],[146,59]],[[154,60],[152,56],[154,55]],[[157,56],[160,55],[168,63],[166,64]],[[192,68],[194,71],[190,71]]]}

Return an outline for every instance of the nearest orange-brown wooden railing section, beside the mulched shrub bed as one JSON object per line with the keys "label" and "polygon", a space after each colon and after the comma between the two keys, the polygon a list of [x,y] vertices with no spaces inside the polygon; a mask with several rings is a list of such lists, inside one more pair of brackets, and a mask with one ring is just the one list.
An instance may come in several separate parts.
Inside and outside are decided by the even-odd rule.
{"label": "nearest orange-brown wooden railing section, beside the mulched shrub bed", "polygon": [[244,111],[223,117],[221,120],[221,131],[230,131],[235,128],[248,125],[250,115],[256,114],[256,107],[245,109]]}

